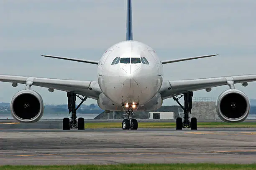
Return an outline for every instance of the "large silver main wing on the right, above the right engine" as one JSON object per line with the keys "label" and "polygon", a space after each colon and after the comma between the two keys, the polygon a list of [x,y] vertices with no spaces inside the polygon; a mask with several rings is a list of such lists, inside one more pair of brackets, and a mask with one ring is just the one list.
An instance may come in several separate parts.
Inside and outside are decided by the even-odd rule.
{"label": "large silver main wing on the right, above the right engine", "polygon": [[163,81],[159,92],[163,99],[167,99],[186,92],[228,85],[228,81],[234,81],[234,83],[252,82],[256,81],[256,75],[236,75],[189,80],[167,80]]}

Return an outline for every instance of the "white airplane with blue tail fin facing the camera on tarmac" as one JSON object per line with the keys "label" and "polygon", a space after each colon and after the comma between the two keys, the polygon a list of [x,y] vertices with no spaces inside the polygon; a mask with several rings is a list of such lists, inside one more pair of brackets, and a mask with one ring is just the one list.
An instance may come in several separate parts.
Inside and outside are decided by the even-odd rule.
{"label": "white airplane with blue tail fin facing the camera on tarmac", "polygon": [[[76,128],[84,130],[84,118],[77,119],[76,110],[87,100],[97,100],[99,107],[106,111],[123,111],[126,118],[122,122],[123,130],[137,130],[138,121],[133,118],[136,111],[157,110],[163,100],[173,98],[184,110],[184,120],[176,119],[176,129],[191,128],[197,130],[197,118],[189,120],[192,109],[193,92],[212,87],[228,85],[216,100],[216,111],[224,122],[242,122],[246,120],[250,102],[244,92],[235,88],[236,83],[244,87],[248,82],[256,81],[256,75],[235,75],[188,80],[163,80],[163,65],[185,60],[194,60],[213,55],[202,55],[174,60],[161,61],[156,51],[148,45],[133,40],[132,6],[127,0],[126,39],[109,47],[99,61],[84,60],[54,55],[42,55],[56,59],[84,62],[97,65],[97,80],[64,80],[42,77],[0,75],[0,81],[12,82],[12,86],[25,84],[11,99],[10,110],[13,118],[21,123],[33,123],[41,119],[44,102],[32,85],[47,87],[49,92],[61,90],[67,92],[68,108],[71,120],[63,119],[63,130]],[[82,97],[81,97],[82,96]],[[82,101],[76,107],[76,98]],[[184,105],[179,99],[184,98]]]}

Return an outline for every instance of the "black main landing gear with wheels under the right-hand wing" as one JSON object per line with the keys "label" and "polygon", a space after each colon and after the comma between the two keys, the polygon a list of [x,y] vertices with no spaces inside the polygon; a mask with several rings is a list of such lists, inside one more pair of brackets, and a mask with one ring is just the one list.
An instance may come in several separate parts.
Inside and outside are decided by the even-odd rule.
{"label": "black main landing gear with wheels under the right-hand wing", "polygon": [[[184,96],[184,107],[178,101],[182,96]],[[191,128],[191,130],[197,130],[197,118],[192,117],[191,122],[189,122],[189,112],[191,114],[193,92],[184,93],[182,96],[177,98],[175,96],[173,97],[173,99],[184,110],[184,121],[182,122],[181,117],[177,117],[176,130],[182,130],[182,128]]]}

